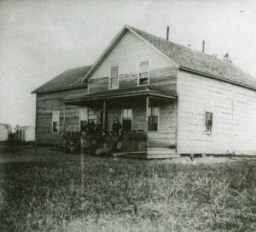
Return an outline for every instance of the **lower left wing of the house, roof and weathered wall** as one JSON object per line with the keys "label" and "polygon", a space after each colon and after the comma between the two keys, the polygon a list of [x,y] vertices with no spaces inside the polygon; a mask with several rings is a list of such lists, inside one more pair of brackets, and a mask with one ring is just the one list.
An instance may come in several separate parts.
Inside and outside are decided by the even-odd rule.
{"label": "lower left wing of the house, roof and weathered wall", "polygon": [[37,144],[58,144],[65,131],[80,131],[79,113],[83,113],[81,116],[84,116],[82,110],[84,108],[66,105],[61,100],[87,93],[87,84],[81,80],[90,67],[64,71],[32,92],[37,93],[35,136]]}

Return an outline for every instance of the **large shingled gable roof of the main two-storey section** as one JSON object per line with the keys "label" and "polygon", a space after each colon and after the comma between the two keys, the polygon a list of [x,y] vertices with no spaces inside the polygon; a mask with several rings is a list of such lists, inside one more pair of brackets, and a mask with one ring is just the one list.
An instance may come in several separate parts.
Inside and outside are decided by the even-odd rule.
{"label": "large shingled gable roof of the main two-storey section", "polygon": [[155,37],[145,31],[125,25],[119,34],[113,39],[108,48],[96,60],[90,71],[85,75],[83,82],[90,78],[90,75],[96,71],[96,68],[101,65],[103,59],[108,56],[113,47],[125,35],[127,31],[131,31],[137,37],[142,38],[150,46],[157,49],[160,54],[176,64],[183,71],[194,71],[201,75],[207,75],[213,78],[232,82],[247,88],[256,89],[256,79],[253,76],[242,71],[236,65],[230,64],[229,61],[218,59],[209,54],[202,54],[190,48],[183,47],[177,43],[167,41],[166,39]]}

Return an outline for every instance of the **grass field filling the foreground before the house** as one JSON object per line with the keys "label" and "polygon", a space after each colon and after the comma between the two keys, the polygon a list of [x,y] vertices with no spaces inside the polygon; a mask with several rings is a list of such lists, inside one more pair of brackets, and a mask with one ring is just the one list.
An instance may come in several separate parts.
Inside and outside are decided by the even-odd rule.
{"label": "grass field filling the foreground before the house", "polygon": [[0,164],[0,231],[256,230],[255,159],[83,158]]}

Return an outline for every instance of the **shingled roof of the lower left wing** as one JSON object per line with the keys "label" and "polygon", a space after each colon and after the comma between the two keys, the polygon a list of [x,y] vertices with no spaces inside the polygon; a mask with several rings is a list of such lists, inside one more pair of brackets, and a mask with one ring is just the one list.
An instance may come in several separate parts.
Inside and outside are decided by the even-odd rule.
{"label": "shingled roof of the lower left wing", "polygon": [[46,82],[41,87],[34,90],[32,93],[45,93],[55,90],[80,88],[86,87],[86,83],[81,82],[86,73],[90,70],[91,65],[84,67],[73,68],[62,72],[60,75],[55,76],[53,79]]}

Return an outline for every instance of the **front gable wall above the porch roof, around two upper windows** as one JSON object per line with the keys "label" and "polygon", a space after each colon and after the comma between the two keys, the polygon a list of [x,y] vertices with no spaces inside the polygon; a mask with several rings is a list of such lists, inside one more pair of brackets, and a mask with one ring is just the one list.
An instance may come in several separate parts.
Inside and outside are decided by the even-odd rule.
{"label": "front gable wall above the porch roof, around two upper windows", "polygon": [[136,88],[140,62],[148,60],[149,85],[176,93],[177,67],[162,54],[128,31],[89,80],[89,93],[108,90],[112,66],[119,66],[119,88]]}

